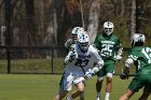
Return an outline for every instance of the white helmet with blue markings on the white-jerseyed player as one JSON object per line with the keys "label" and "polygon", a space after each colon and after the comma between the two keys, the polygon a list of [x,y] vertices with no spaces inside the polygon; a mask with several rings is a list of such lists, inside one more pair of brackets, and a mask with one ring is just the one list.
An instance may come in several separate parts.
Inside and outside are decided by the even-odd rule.
{"label": "white helmet with blue markings on the white-jerseyed player", "polygon": [[90,38],[88,34],[86,33],[86,31],[79,33],[79,45],[80,48],[85,52],[88,48],[88,42],[90,42]]}

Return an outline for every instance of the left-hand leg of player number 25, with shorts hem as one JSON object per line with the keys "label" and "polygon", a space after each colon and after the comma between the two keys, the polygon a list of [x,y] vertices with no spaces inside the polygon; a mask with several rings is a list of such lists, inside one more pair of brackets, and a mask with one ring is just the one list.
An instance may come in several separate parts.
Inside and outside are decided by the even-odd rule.
{"label": "left-hand leg of player number 25, with shorts hem", "polygon": [[106,75],[106,70],[101,69],[98,73],[97,73],[97,82],[96,82],[96,100],[100,100],[101,99],[101,86],[102,86],[102,82],[104,82],[104,76]]}

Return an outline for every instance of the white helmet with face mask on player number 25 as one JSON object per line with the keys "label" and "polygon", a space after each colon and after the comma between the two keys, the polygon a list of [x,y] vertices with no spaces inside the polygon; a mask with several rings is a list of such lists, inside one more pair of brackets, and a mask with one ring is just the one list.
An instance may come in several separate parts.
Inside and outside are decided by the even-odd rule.
{"label": "white helmet with face mask on player number 25", "polygon": [[104,31],[107,35],[110,35],[113,32],[113,23],[106,22],[104,24]]}

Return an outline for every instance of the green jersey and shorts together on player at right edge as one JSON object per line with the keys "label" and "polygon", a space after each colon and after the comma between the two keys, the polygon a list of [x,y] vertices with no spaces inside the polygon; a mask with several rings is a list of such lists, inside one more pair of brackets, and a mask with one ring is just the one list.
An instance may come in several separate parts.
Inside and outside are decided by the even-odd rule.
{"label": "green jersey and shorts together on player at right edge", "polygon": [[128,88],[138,91],[145,87],[146,91],[151,92],[151,47],[133,47],[129,51],[128,58],[132,58],[134,65],[138,67],[138,71]]}

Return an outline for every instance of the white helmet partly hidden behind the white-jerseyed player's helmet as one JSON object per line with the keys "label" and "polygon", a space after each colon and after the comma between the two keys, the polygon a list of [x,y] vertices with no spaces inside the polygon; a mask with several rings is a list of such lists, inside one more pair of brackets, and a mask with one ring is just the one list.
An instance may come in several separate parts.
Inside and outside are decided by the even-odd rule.
{"label": "white helmet partly hidden behind the white-jerseyed player's helmet", "polygon": [[78,33],[80,33],[80,31],[84,31],[84,29],[82,27],[74,27],[72,29],[72,40],[73,42],[77,42],[78,41]]}

